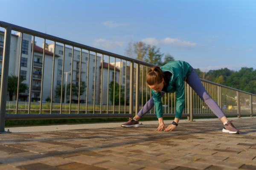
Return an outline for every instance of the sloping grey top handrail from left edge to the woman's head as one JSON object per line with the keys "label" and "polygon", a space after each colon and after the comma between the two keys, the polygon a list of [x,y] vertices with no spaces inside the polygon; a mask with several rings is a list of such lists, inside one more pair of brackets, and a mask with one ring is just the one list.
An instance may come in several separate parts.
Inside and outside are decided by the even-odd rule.
{"label": "sloping grey top handrail from left edge to the woman's head", "polygon": [[155,65],[149,64],[147,62],[137,60],[137,59],[132,59],[132,58],[129,58],[129,57],[121,56],[121,55],[114,54],[114,53],[111,53],[111,52],[108,52],[108,51],[100,50],[98,48],[93,48],[93,47],[90,47],[90,46],[87,46],[87,45],[83,45],[83,44],[80,44],[80,43],[77,43],[77,42],[65,40],[65,39],[62,39],[62,38],[59,38],[59,37],[55,37],[55,36],[52,36],[52,35],[49,35],[49,34],[44,34],[44,33],[39,32],[39,31],[34,31],[32,29],[24,28],[24,27],[21,27],[21,26],[16,26],[14,24],[6,23],[6,22],[3,22],[3,21],[0,21],[0,27],[3,27],[3,28],[12,27],[12,30],[14,30],[14,31],[22,32],[22,33],[33,35],[33,36],[40,37],[40,38],[45,38],[47,40],[56,41],[56,42],[66,44],[66,45],[70,45],[70,46],[74,46],[74,47],[77,47],[77,48],[82,48],[82,49],[85,49],[85,50],[88,50],[88,51],[93,51],[95,53],[104,54],[104,55],[111,56],[111,57],[116,57],[116,58],[119,58],[119,59],[124,59],[124,60],[130,61],[130,62],[133,61],[135,63],[140,63],[142,65],[146,65],[146,66],[149,66],[149,67],[155,66]]}

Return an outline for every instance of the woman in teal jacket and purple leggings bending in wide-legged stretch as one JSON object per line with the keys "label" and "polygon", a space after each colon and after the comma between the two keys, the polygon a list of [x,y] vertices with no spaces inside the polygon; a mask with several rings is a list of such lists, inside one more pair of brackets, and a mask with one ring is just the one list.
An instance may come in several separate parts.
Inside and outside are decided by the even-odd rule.
{"label": "woman in teal jacket and purple leggings bending in wide-legged stretch", "polygon": [[[140,112],[130,118],[128,122],[122,124],[122,127],[139,127],[140,118],[148,113],[155,106],[159,127],[157,130],[172,131],[174,130],[181,118],[185,104],[185,88],[184,81],[195,91],[195,93],[205,102],[211,111],[221,119],[224,124],[222,132],[239,134],[239,130],[233,125],[232,120],[228,121],[227,117],[221,111],[221,108],[207,93],[201,80],[196,74],[194,68],[184,61],[171,61],[162,67],[154,66],[149,69],[147,75],[147,84],[152,90],[153,96],[143,106]],[[175,119],[167,128],[163,122],[163,108],[161,98],[165,93],[177,93]]]}

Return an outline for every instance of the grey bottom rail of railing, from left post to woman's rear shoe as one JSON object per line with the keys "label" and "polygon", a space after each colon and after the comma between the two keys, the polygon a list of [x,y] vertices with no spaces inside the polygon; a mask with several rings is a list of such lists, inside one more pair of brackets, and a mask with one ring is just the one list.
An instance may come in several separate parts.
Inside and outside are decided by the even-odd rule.
{"label": "grey bottom rail of railing, from left post to woman's rear shoe", "polygon": [[5,120],[128,118],[131,114],[6,114]]}

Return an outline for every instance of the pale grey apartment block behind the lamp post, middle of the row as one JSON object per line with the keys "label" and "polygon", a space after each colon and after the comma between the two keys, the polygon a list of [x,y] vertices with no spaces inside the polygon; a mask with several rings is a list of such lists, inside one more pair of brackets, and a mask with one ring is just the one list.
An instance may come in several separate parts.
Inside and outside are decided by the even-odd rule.
{"label": "pale grey apartment block behind the lamp post, middle of the row", "polygon": [[[47,45],[47,49],[53,52],[54,44]],[[56,69],[58,70],[58,76],[55,81],[55,86],[61,85],[61,76],[62,76],[62,64],[64,63],[64,73],[67,74],[67,84],[71,82],[71,67],[72,67],[72,48],[65,47],[65,55],[64,55],[64,62],[63,62],[63,45],[55,45],[55,53],[60,55],[58,58],[58,66]],[[72,83],[79,85],[79,71],[80,71],[80,55],[81,51],[74,49],[73,51],[73,77]],[[89,63],[88,63],[89,61]],[[97,79],[97,75],[99,75],[99,67],[100,67],[101,57],[97,56],[95,59],[95,54],[90,54],[90,58],[88,59],[88,53],[82,51],[81,56],[81,82],[85,82],[88,85],[88,105],[93,104],[94,93],[97,97],[99,95],[99,91],[96,91],[99,87],[99,79]],[[96,68],[95,68],[96,62]],[[88,84],[87,84],[87,68],[89,65],[89,74],[88,74]],[[95,77],[96,72],[96,77]],[[66,82],[66,74],[64,74],[63,83]],[[94,81],[96,81],[96,87],[94,87]],[[87,87],[86,87],[87,89]],[[86,94],[87,91],[84,92],[80,96],[80,102],[86,102]],[[69,98],[67,99],[67,101]],[[78,102],[78,96],[73,96],[73,102]],[[60,98],[56,98],[57,102],[60,102]],[[98,99],[96,99],[96,104]]]}

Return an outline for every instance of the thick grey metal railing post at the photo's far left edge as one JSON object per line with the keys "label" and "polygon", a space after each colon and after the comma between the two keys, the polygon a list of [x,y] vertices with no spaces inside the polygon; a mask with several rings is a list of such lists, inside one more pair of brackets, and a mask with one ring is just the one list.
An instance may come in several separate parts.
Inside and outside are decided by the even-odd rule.
{"label": "thick grey metal railing post at the photo's far left edge", "polygon": [[5,28],[4,45],[3,45],[3,61],[2,61],[2,77],[0,88],[0,133],[4,133],[5,114],[6,114],[6,97],[8,85],[9,59],[11,47],[12,28]]}

